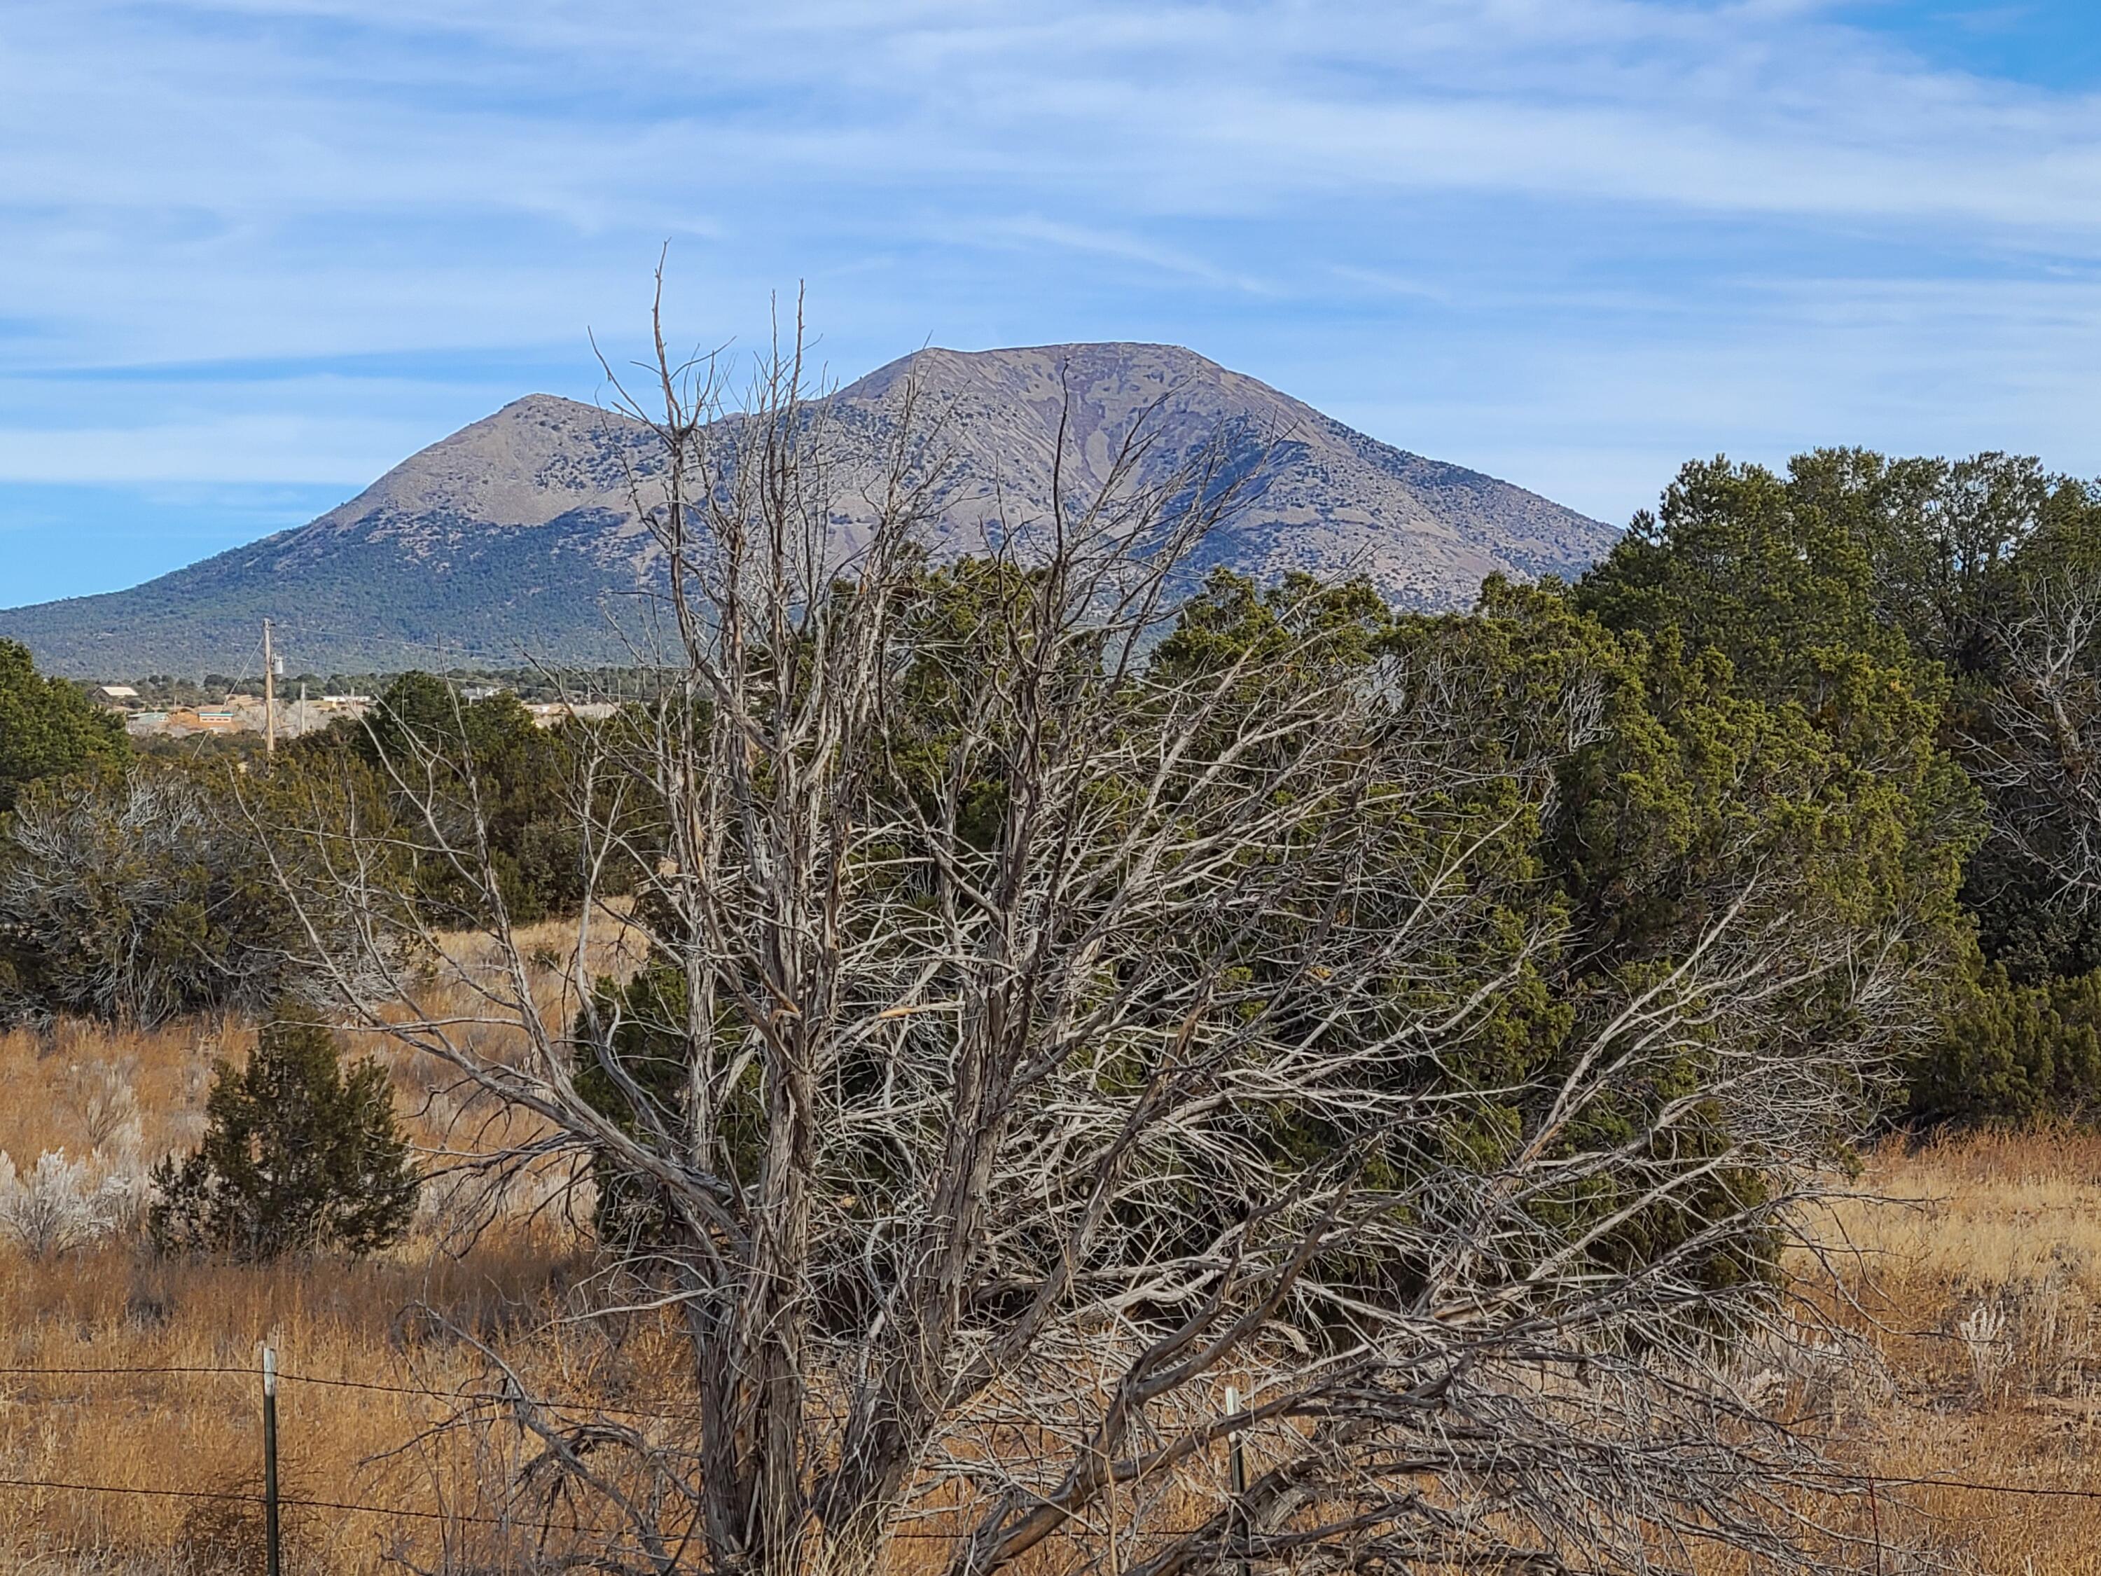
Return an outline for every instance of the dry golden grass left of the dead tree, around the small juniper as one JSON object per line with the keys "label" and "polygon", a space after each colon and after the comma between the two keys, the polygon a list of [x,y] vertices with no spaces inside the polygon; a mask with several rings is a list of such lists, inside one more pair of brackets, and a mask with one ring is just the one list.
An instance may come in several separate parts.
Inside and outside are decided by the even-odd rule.
{"label": "dry golden grass left of the dead tree, around the small juniper", "polygon": [[[559,935],[544,939],[561,946]],[[550,1015],[574,1011],[553,967],[538,969],[534,983]],[[460,996],[454,1007],[464,1004]],[[351,1040],[357,1051],[378,1049]],[[240,1061],[252,1044],[252,1028],[219,1023],[0,1034],[0,1152],[27,1170],[46,1149],[88,1154],[97,1128],[105,1149],[122,1145],[145,1160],[193,1147],[212,1061]],[[384,1059],[418,1143],[504,1137],[452,1093],[439,1063]],[[107,1120],[90,1112],[103,1067],[120,1067],[134,1095],[128,1133],[107,1133]],[[399,1250],[359,1265],[166,1263],[137,1242],[34,1259],[0,1242],[0,1479],[8,1479],[0,1484],[0,1570],[261,1570],[250,1507],[181,1496],[256,1490],[263,1343],[290,1374],[279,1402],[288,1494],[466,1517],[448,1528],[370,1513],[294,1515],[290,1568],[300,1576],[389,1568],[382,1555],[403,1534],[424,1555],[441,1536],[492,1536],[471,1517],[487,1509],[515,1463],[483,1458],[485,1439],[466,1433],[429,1437],[454,1410],[448,1397],[487,1389],[481,1345],[550,1397],[620,1404],[677,1393],[672,1353],[647,1328],[630,1330],[616,1353],[584,1336],[544,1334],[586,1269],[563,1221],[500,1223],[460,1257],[445,1227],[427,1219]],[[6,1372],[32,1368],[235,1372]],[[25,1479],[170,1494],[25,1488]],[[492,1549],[487,1570],[504,1568]]]}

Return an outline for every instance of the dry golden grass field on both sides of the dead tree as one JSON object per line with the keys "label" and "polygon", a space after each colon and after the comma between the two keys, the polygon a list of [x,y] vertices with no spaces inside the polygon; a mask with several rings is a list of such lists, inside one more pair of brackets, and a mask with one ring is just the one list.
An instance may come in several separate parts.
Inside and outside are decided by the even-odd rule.
{"label": "dry golden grass field on both sides of the dead tree", "polygon": [[[240,1030],[197,1025],[0,1036],[0,1149],[19,1168],[57,1147],[116,1168],[189,1145],[212,1059],[246,1044]],[[458,1131],[435,1067],[395,1061],[393,1074],[420,1139]],[[1824,1225],[1847,1263],[1836,1311],[1859,1345],[1834,1347],[1801,1387],[1843,1458],[1882,1479],[2097,1494],[1891,1484],[1861,1500],[1864,1530],[1929,1544],[1952,1570],[2101,1576],[2101,1137],[1889,1147],[1861,1194]],[[0,1370],[122,1370],[0,1372],[0,1570],[246,1568],[246,1502],[185,1496],[254,1490],[265,1341],[290,1374],[288,1492],[452,1517],[298,1515],[294,1572],[401,1570],[389,1553],[519,1568],[529,1530],[477,1517],[500,1511],[521,1460],[502,1431],[439,1431],[454,1397],[487,1387],[496,1353],[538,1393],[668,1410],[639,1427],[677,1429],[677,1347],[647,1326],[618,1347],[550,1339],[548,1318],[588,1273],[576,1233],[511,1223],[454,1254],[448,1210],[429,1208],[412,1242],[353,1267],[160,1263],[124,1236],[42,1259],[0,1246]],[[1891,1555],[1893,1574],[1908,1568]]]}

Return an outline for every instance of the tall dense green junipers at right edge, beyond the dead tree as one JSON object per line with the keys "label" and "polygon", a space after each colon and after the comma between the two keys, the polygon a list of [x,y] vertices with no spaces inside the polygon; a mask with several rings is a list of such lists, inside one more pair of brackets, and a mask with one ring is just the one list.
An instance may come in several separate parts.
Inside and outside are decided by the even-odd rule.
{"label": "tall dense green junipers at right edge, beyond the dead tree", "polygon": [[[2030,458],[1819,450],[1786,473],[1685,466],[1572,601],[1624,639],[1691,658],[1677,662],[1687,672],[1712,670],[1708,689],[1740,714],[1689,729],[1683,685],[1651,685],[1658,717],[1696,744],[1706,811],[1683,822],[1643,767],[1626,777],[1632,813],[1611,813],[1632,841],[1601,845],[1582,826],[1574,864],[1599,866],[1603,847],[1609,874],[1614,843],[1668,845],[1702,822],[1727,832],[1725,847],[1750,847],[1733,826],[1746,801],[1733,773],[1744,763],[1771,780],[1773,748],[1744,719],[1780,723],[1824,763],[1813,794],[1773,801],[1788,817],[1761,857],[1851,845],[1828,897],[1914,914],[1946,956],[1910,1057],[1908,1118],[2090,1120],[2101,887],[2082,883],[2082,851],[2101,847],[2101,801],[2086,790],[2101,738],[2097,565],[2101,494]],[[1637,912],[1618,878],[1588,885],[1614,912]]]}

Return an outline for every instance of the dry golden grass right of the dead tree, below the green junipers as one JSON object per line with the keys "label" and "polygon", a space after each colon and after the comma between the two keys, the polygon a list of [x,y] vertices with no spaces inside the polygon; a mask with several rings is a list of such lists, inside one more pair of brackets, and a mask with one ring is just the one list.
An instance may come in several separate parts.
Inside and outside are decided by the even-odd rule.
{"label": "dry golden grass right of the dead tree, below the green junipers", "polygon": [[1861,1191],[1830,1227],[1857,1252],[1840,1320],[1874,1353],[1830,1385],[1845,1456],[2074,1492],[1891,1486],[1874,1515],[1956,1570],[2101,1576],[2101,1137],[1891,1145]]}

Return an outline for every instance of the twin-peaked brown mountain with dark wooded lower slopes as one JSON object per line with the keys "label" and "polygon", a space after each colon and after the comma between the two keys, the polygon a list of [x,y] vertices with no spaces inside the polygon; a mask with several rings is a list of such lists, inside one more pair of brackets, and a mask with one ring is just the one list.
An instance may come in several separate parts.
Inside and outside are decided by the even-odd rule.
{"label": "twin-peaked brown mountain with dark wooded lower slopes", "polygon": [[[1065,481],[1105,477],[1147,410],[1139,483],[1214,437],[1254,473],[1206,563],[1261,580],[1368,574],[1395,603],[1460,607],[1492,572],[1569,576],[1616,538],[1538,494],[1378,443],[1254,378],[1166,345],[929,349],[832,395],[840,475],[874,469],[897,435],[908,374],[920,420],[952,452],[937,555],[985,540],[1050,500],[1059,422]],[[0,635],[50,672],[137,677],[233,670],[263,618],[294,672],[624,662],[660,555],[630,504],[656,473],[647,429],[529,395],[410,456],[347,504],[132,590],[0,609]],[[1078,473],[1078,477],[1076,477]],[[866,509],[843,490],[840,530]],[[1202,567],[1202,565],[1198,565]]]}

